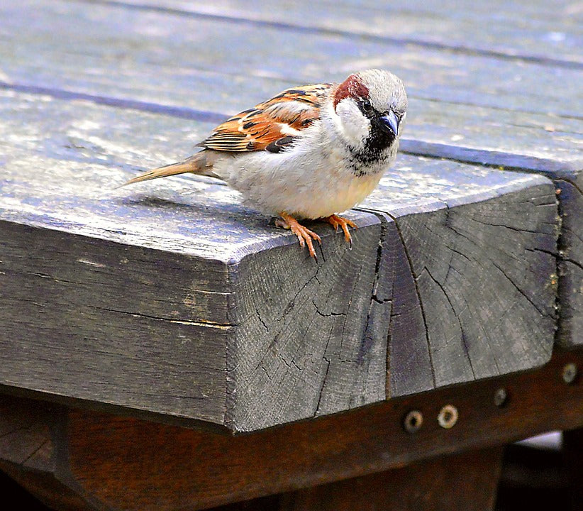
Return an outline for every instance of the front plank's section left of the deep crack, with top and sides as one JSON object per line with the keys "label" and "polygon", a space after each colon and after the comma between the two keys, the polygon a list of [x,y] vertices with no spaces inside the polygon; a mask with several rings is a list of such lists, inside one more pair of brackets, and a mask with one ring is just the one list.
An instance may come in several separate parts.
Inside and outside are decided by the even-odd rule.
{"label": "front plank's section left of the deep crack, with top and sides", "polygon": [[139,126],[191,122],[4,96],[1,383],[235,430],[384,399],[386,336],[361,353],[374,214],[350,214],[352,251],[314,226],[316,264],[211,180],[112,191],[132,174],[112,129],[136,155]]}

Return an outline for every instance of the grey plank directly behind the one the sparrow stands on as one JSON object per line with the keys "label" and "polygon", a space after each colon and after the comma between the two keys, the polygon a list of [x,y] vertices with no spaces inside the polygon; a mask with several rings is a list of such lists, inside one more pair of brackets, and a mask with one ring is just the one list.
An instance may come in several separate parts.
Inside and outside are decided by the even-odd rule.
{"label": "grey plank directly behind the one the sparrow stands on", "polygon": [[[555,14],[541,11],[533,19],[562,16],[570,7],[553,9]],[[391,67],[404,77],[411,95],[404,150],[535,170],[558,180],[565,229],[557,339],[565,346],[583,343],[577,334],[583,326],[580,70],[548,62],[517,64],[494,56],[411,50],[376,40],[355,44],[345,35],[330,33],[310,38],[318,41],[318,53],[313,54],[297,31],[262,27],[257,40],[256,27],[228,17],[200,19],[163,9],[136,11],[123,4],[91,10],[74,2],[35,9],[18,4],[5,13],[4,31],[15,35],[4,46],[3,78],[8,82],[154,101],[135,105],[145,109],[159,109],[159,103],[187,106],[195,110],[174,114],[198,119],[208,118],[208,111],[226,115],[244,109],[295,82],[340,79],[369,65]],[[66,44],[52,38],[55,23],[65,31]],[[575,28],[565,33],[565,40],[577,37]],[[172,44],[160,43],[165,38]],[[274,57],[262,51],[270,38],[277,39],[280,48]],[[110,45],[111,40],[116,45]],[[243,41],[247,50],[242,60],[238,52]],[[204,51],[196,51],[201,45]],[[104,61],[101,55],[109,57]],[[116,55],[126,55],[127,60]],[[47,61],[51,67],[45,66]],[[269,78],[262,78],[265,75]]]}

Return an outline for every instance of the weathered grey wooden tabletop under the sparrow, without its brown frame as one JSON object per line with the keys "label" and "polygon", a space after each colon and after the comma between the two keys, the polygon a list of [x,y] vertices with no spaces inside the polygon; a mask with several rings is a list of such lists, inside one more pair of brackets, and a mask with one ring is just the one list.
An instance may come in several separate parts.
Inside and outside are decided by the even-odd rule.
{"label": "weathered grey wooden tabletop under the sparrow, without its brown frame", "polygon": [[[251,432],[583,338],[574,2],[0,5],[0,385]],[[116,189],[226,116],[383,67],[401,154],[318,262],[204,177]]]}

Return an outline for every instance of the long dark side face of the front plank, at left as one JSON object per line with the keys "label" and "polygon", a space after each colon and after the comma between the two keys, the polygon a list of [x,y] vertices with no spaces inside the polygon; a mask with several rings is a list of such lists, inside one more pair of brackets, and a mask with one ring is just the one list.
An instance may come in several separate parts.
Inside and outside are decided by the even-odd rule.
{"label": "long dark side face of the front plank, at left", "polygon": [[225,421],[232,325],[188,310],[211,265],[10,221],[0,233],[2,383]]}

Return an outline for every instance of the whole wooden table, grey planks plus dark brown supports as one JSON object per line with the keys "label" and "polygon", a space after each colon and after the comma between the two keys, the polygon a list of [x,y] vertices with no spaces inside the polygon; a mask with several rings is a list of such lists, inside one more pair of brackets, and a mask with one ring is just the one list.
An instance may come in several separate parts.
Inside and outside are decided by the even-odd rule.
{"label": "whole wooden table, grey planks plus dark brown supports", "polygon": [[[581,37],[462,4],[0,6],[1,470],[57,509],[484,510],[504,444],[583,427]],[[210,178],[116,189],[373,66],[411,106],[352,250]]]}

